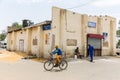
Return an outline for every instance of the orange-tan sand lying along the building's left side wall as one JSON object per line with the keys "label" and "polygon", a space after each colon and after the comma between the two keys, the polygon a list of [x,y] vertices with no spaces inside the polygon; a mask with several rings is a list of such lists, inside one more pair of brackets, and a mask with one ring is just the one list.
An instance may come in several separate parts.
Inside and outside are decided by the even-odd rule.
{"label": "orange-tan sand lying along the building's left side wall", "polygon": [[[22,53],[22,52],[10,52],[5,49],[0,50],[0,61],[3,61],[3,62],[15,63],[15,62],[23,59],[24,57],[28,57],[28,55],[26,53]],[[32,60],[38,61],[38,62],[45,61],[42,58],[34,58]]]}

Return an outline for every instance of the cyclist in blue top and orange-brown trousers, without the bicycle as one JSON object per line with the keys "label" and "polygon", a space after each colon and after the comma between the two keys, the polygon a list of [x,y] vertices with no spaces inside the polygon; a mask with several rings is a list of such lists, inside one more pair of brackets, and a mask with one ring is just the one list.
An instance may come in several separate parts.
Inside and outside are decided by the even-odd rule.
{"label": "cyclist in blue top and orange-brown trousers, without the bicycle", "polygon": [[58,46],[56,45],[55,50],[52,51],[52,54],[57,54],[56,55],[56,62],[55,62],[55,66],[54,66],[54,67],[57,67],[60,63],[60,59],[62,58],[62,50],[59,49]]}

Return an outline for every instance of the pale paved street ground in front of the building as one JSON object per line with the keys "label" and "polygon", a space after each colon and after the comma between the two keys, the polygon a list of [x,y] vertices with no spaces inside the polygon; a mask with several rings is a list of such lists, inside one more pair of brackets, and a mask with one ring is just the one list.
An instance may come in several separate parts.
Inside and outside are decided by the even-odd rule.
{"label": "pale paved street ground in front of the building", "polygon": [[120,58],[95,57],[93,63],[69,59],[63,71],[45,71],[43,63],[31,59],[17,59],[14,63],[0,60],[0,80],[120,80]]}

